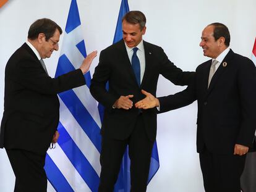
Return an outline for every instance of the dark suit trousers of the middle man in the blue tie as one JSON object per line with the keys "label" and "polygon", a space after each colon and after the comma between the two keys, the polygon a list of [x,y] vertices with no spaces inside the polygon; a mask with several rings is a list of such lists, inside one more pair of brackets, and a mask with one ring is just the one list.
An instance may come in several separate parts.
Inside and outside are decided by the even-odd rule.
{"label": "dark suit trousers of the middle man in the blue tie", "polygon": [[134,130],[126,140],[115,140],[103,135],[98,191],[112,192],[114,190],[114,184],[116,183],[127,145],[129,146],[130,157],[130,191],[146,191],[153,143],[147,136],[141,114],[137,117]]}

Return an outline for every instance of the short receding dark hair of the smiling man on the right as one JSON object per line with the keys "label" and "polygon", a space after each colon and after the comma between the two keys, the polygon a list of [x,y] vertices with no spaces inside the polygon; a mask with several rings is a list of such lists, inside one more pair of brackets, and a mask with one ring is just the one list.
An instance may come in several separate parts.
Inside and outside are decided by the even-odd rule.
{"label": "short receding dark hair of the smiling man on the right", "polygon": [[230,43],[230,34],[228,27],[226,27],[226,25],[224,25],[223,23],[211,23],[210,25],[215,27],[213,30],[213,37],[215,38],[215,41],[223,36],[225,38],[224,44],[228,47]]}

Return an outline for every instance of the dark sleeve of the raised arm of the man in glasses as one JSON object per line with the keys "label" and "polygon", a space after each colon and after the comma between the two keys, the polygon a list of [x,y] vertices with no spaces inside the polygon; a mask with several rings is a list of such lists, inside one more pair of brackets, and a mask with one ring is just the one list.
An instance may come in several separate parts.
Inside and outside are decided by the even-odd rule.
{"label": "dark sleeve of the raised arm of the man in glasses", "polygon": [[28,90],[41,94],[57,94],[77,86],[85,85],[85,78],[80,69],[61,75],[49,77],[33,59],[22,59],[17,62],[8,76]]}

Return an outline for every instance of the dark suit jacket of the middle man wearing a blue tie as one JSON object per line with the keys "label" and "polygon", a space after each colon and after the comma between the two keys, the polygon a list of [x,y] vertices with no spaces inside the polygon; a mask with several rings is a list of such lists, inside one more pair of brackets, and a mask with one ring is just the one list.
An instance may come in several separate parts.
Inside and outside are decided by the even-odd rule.
{"label": "dark suit jacket of the middle man wearing a blue tie", "polygon": [[[156,85],[159,75],[163,75],[176,85],[187,85],[194,73],[182,72],[168,60],[163,49],[143,41],[145,49],[145,73],[139,87],[135,79],[132,65],[127,55],[124,41],[121,40],[101,51],[100,62],[95,68],[90,91],[93,97],[105,107],[105,114],[101,134],[110,138],[124,140],[134,127],[139,110],[113,109],[114,102],[120,96],[133,94],[132,101],[137,102],[144,98],[141,90],[156,94]],[[109,90],[105,88],[109,81]],[[148,138],[156,138],[156,109],[142,111]]]}

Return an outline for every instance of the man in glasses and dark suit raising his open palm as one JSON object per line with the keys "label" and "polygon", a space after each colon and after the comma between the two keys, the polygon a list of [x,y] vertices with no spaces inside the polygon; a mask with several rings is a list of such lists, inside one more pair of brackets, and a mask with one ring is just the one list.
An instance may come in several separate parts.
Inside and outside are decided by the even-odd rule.
{"label": "man in glasses and dark suit raising his open palm", "polygon": [[61,33],[61,27],[52,20],[36,20],[30,26],[27,42],[6,65],[0,148],[6,149],[14,170],[14,191],[46,191],[46,151],[59,137],[57,93],[84,85],[83,74],[96,56],[94,51],[80,69],[49,77],[42,59],[58,51]]}

